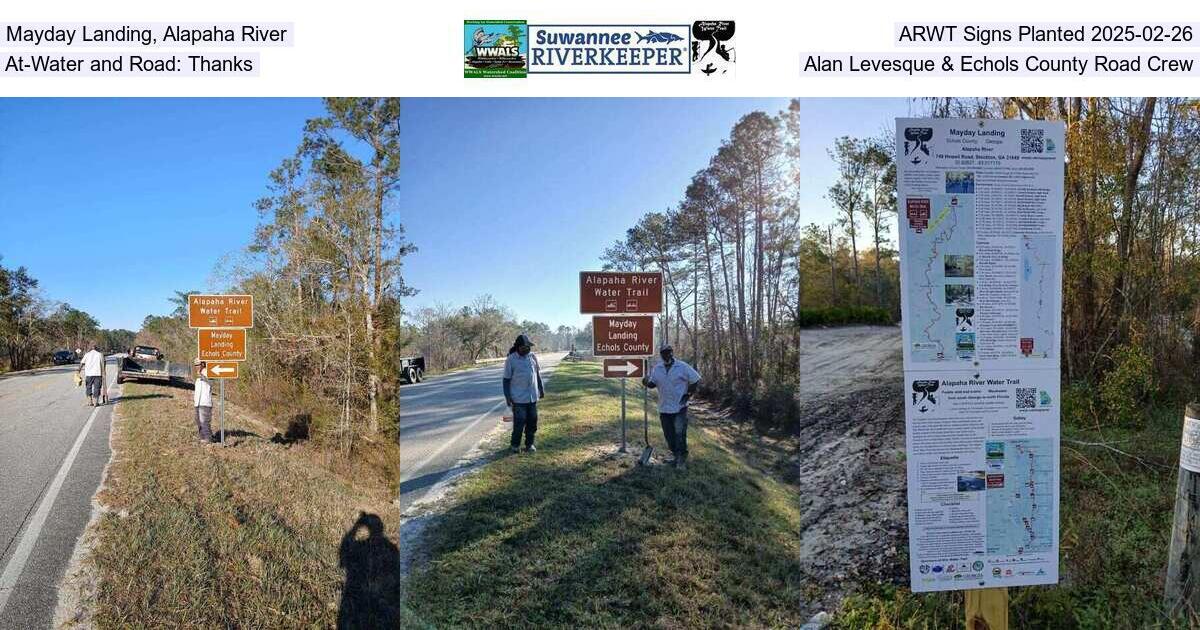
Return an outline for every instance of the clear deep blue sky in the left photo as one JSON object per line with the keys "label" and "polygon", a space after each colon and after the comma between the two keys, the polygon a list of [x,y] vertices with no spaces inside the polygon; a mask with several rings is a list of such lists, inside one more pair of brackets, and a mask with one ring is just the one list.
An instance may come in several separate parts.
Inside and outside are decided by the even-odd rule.
{"label": "clear deep blue sky in the left photo", "polygon": [[211,286],[318,100],[0,100],[0,264],[138,330]]}

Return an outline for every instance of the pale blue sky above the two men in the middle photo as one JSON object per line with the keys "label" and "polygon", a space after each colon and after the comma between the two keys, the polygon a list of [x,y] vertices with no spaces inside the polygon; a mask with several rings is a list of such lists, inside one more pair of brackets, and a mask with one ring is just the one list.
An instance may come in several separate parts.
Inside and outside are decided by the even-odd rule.
{"label": "pale blue sky above the two men in the middle photo", "polygon": [[490,293],[520,319],[582,325],[578,272],[676,205],[733,124],[786,98],[406,100],[401,215],[420,251],[409,310]]}

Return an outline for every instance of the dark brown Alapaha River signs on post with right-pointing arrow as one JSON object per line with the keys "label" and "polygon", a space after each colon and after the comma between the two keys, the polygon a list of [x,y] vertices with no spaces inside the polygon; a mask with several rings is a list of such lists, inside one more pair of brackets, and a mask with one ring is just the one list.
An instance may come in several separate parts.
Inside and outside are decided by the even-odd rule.
{"label": "dark brown Alapaha River signs on post with right-pointing arrow", "polygon": [[654,316],[646,313],[661,312],[661,272],[580,271],[580,313],[594,316],[592,354],[605,358],[605,378],[620,379],[619,452],[628,452],[625,380],[646,374],[644,358],[654,354]]}

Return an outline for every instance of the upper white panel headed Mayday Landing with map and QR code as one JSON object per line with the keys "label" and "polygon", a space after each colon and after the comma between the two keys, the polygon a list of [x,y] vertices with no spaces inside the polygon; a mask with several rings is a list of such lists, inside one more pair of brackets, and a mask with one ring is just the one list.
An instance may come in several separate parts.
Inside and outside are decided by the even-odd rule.
{"label": "upper white panel headed Mayday Landing with map and QR code", "polygon": [[908,370],[1055,367],[1063,126],[896,121]]}

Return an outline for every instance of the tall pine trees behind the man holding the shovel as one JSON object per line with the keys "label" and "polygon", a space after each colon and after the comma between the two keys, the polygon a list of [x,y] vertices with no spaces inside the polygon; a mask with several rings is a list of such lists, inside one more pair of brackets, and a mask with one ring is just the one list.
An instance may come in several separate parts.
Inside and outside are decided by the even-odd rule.
{"label": "tall pine trees behind the man holding the shovel", "polygon": [[799,102],[746,114],[678,204],[648,211],[602,256],[661,271],[660,341],[712,394],[764,427],[798,421]]}

